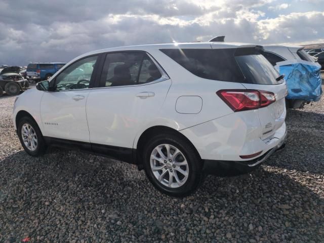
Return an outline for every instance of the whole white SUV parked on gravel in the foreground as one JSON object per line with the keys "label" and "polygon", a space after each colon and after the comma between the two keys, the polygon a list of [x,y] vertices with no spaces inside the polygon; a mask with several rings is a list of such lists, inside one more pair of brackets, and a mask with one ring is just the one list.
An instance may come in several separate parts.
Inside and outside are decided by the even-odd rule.
{"label": "whole white SUV parked on gravel in the foreground", "polygon": [[246,172],[284,146],[284,79],[262,47],[187,43],[94,51],[15,101],[25,151],[78,148],[144,169],[172,196]]}

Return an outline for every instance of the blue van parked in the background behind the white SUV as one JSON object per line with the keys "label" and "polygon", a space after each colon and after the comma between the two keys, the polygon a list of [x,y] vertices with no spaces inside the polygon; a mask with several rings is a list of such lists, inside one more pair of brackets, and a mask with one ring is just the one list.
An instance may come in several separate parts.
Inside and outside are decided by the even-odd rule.
{"label": "blue van parked in the background behind the white SUV", "polygon": [[64,65],[63,62],[29,63],[26,70],[27,79],[35,81],[49,79]]}

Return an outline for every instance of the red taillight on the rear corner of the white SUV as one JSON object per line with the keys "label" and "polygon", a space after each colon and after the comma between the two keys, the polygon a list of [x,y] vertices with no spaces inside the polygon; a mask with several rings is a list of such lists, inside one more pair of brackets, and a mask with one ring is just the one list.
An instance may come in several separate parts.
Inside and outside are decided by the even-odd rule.
{"label": "red taillight on the rear corner of the white SUV", "polygon": [[275,95],[263,90],[219,90],[216,94],[234,112],[254,110],[275,102]]}

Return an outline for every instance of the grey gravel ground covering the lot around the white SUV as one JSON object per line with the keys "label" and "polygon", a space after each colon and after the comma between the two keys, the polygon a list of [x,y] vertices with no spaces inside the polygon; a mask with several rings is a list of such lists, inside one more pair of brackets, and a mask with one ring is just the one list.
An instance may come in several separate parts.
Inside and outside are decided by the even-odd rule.
{"label": "grey gravel ground covering the lot around the white SUV", "polygon": [[14,99],[0,98],[0,242],[324,242],[324,99],[288,111],[286,149],[260,169],[208,176],[183,199],[119,161],[28,156]]}

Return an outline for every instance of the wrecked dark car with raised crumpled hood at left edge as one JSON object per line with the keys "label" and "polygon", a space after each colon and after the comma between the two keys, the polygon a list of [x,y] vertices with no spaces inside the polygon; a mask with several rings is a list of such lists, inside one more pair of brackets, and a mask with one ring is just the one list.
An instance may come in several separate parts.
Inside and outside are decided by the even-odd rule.
{"label": "wrecked dark car with raised crumpled hood at left edge", "polygon": [[18,95],[29,87],[28,80],[20,75],[20,67],[6,67],[0,72],[0,96]]}

